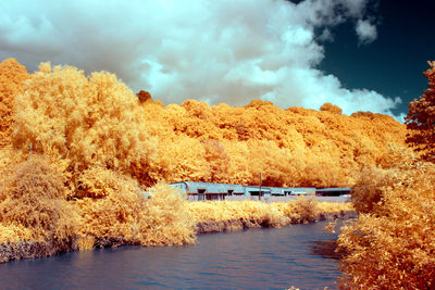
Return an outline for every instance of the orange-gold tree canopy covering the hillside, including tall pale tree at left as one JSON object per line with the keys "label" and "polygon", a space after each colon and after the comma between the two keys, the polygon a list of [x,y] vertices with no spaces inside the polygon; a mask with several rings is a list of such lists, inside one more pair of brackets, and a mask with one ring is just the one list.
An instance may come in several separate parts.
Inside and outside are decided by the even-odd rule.
{"label": "orange-gold tree canopy covering the hillside, including tall pale tree at left", "polygon": [[[141,186],[159,181],[351,186],[389,144],[403,146],[406,128],[393,117],[341,115],[251,101],[229,106],[187,100],[163,106],[147,91],[132,92],[113,74],[85,76],[72,66],[41,63],[27,74],[15,60],[0,65],[2,134],[21,153],[50,156],[72,196],[88,194],[89,171],[122,172]],[[7,141],[8,140],[8,141]],[[25,155],[24,154],[24,155]],[[86,190],[85,190],[86,191]]]}

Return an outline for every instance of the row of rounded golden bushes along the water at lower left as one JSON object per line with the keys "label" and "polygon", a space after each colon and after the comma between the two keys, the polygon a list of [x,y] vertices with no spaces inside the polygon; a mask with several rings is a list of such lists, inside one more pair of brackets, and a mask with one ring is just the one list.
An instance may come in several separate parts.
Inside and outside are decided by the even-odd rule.
{"label": "row of rounded golden bushes along the water at lower left", "polygon": [[[152,199],[146,200],[138,182],[128,176],[102,168],[84,175],[84,194],[67,201],[63,176],[40,156],[3,172],[0,244],[12,242],[7,249],[18,249],[1,250],[0,263],[77,248],[195,242],[185,197],[173,187],[157,185],[150,189]],[[24,250],[20,248],[23,241],[29,243]]]}

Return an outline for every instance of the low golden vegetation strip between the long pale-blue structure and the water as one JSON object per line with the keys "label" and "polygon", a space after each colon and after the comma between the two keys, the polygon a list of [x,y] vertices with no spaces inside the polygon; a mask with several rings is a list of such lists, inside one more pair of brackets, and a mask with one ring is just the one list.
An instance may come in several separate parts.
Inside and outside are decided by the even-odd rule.
{"label": "low golden vegetation strip between the long pale-blue structure and the water", "polygon": [[196,222],[197,234],[284,227],[357,216],[351,203],[318,202],[304,198],[270,204],[257,201],[200,202],[190,203],[187,209]]}

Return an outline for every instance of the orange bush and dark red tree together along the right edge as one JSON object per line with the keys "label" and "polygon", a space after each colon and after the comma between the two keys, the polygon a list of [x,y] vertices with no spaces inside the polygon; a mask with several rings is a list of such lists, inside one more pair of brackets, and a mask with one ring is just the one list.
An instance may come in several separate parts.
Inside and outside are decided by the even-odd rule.
{"label": "orange bush and dark red tree together along the right edge", "polygon": [[[435,63],[424,75],[430,88],[409,104],[407,143],[423,160],[434,156]],[[374,117],[358,114],[358,117]],[[362,214],[341,228],[341,288],[433,289],[435,287],[435,165],[410,150],[391,147],[377,166],[361,172],[353,187]]]}

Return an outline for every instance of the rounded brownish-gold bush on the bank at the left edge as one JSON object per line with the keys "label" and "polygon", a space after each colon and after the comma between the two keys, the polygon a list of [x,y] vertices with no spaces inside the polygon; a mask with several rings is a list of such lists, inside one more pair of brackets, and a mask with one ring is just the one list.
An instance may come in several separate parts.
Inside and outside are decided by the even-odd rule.
{"label": "rounded brownish-gold bush on the bank at the left edge", "polygon": [[16,227],[21,240],[51,242],[75,235],[78,216],[66,202],[62,176],[42,157],[16,164],[1,179],[0,225]]}

